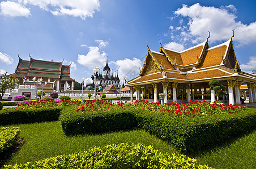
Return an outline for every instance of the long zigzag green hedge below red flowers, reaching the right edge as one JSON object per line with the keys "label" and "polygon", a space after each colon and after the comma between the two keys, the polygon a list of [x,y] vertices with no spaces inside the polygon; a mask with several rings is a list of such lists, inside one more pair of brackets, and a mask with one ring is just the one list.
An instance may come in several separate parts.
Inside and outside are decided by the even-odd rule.
{"label": "long zigzag green hedge below red flowers, reaching the right edge", "polygon": [[181,152],[197,152],[244,135],[256,128],[256,110],[203,117],[171,117],[146,110],[113,110],[114,112],[78,113],[63,109],[62,129],[67,135],[142,128],[168,141]]}

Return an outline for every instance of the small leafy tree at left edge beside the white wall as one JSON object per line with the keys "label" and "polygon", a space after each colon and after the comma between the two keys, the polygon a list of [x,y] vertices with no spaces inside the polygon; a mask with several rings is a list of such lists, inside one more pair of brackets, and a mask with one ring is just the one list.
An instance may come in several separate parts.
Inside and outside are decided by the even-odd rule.
{"label": "small leafy tree at left edge beside the white wall", "polygon": [[0,75],[0,100],[2,100],[3,95],[7,89],[14,90],[18,86],[19,80],[15,77],[8,77],[5,74]]}

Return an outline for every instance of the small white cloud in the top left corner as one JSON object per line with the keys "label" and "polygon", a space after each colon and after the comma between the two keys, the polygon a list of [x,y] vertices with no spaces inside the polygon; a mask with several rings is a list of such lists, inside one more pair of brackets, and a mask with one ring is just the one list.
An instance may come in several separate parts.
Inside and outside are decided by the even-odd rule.
{"label": "small white cloud in the top left corner", "polygon": [[28,8],[24,7],[20,3],[15,3],[11,1],[3,1],[0,3],[0,14],[5,16],[30,16],[30,11]]}

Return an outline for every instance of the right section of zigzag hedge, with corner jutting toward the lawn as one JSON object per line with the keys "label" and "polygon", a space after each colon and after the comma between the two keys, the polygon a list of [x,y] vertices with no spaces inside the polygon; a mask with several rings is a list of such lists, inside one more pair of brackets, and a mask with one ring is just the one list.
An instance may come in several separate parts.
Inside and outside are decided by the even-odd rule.
{"label": "right section of zigzag hedge, with corner jutting toward the lawn", "polygon": [[181,152],[196,152],[207,146],[225,143],[256,128],[255,109],[194,118],[168,117],[148,112],[139,112],[136,117],[138,128],[167,140]]}

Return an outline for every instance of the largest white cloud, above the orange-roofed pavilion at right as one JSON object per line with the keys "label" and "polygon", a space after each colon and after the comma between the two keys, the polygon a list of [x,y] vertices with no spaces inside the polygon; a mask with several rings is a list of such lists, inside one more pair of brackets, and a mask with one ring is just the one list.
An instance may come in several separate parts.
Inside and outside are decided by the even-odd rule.
{"label": "largest white cloud, above the orange-roofed pavilion at right", "polygon": [[[208,31],[211,32],[210,40],[221,41],[231,38],[235,30],[234,41],[241,45],[246,45],[256,40],[256,22],[249,25],[242,24],[241,21],[236,21],[236,8],[233,5],[216,7],[201,6],[196,3],[190,7],[182,5],[174,14],[182,16],[182,20],[187,18],[189,28],[186,33],[192,35],[190,40],[193,43],[205,41],[208,37]],[[182,24],[182,23],[181,23]],[[182,30],[183,31],[183,30]]]}

